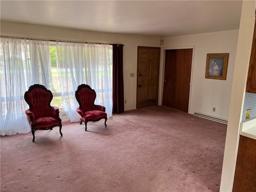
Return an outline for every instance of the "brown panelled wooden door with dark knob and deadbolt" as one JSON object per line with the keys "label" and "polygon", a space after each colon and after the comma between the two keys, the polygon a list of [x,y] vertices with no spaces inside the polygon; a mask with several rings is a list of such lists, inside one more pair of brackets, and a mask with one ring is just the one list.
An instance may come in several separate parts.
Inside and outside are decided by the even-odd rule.
{"label": "brown panelled wooden door with dark knob and deadbolt", "polygon": [[138,46],[136,107],[158,104],[159,47]]}

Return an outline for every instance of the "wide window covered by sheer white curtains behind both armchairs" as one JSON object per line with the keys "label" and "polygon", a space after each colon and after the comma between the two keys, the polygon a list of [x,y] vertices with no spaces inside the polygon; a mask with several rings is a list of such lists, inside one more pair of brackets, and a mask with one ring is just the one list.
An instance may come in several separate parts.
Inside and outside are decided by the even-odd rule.
{"label": "wide window covered by sheer white curtains behind both armchairs", "polygon": [[52,106],[78,122],[75,91],[89,84],[97,93],[95,104],[112,116],[112,45],[83,42],[0,38],[1,135],[27,133],[24,93],[42,84],[53,93]]}

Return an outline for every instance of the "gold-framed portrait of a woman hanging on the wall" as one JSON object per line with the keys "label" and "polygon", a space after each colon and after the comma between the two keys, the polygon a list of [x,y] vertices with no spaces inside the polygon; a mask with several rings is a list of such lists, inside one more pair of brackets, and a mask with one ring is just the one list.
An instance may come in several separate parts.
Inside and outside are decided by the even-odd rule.
{"label": "gold-framed portrait of a woman hanging on the wall", "polygon": [[228,53],[207,54],[205,78],[226,80]]}

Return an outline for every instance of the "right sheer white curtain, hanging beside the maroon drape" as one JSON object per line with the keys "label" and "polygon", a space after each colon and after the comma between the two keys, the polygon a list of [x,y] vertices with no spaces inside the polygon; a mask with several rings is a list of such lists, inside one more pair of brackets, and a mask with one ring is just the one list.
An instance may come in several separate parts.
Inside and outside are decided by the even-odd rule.
{"label": "right sheer white curtain, hanging beside the maroon drape", "polygon": [[96,91],[95,104],[112,116],[112,46],[78,42],[56,42],[58,70],[64,110],[70,122],[78,122],[75,91],[88,84]]}

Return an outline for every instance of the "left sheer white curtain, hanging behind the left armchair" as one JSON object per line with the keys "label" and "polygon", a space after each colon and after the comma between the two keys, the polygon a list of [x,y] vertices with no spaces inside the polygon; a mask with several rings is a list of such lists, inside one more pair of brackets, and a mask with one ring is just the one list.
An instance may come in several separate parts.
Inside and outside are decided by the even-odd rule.
{"label": "left sheer white curtain, hanging behind the left armchair", "polygon": [[[28,133],[25,110],[28,108],[24,93],[32,84],[47,84],[44,62],[47,61],[47,46],[26,38],[0,38],[0,130],[1,135]],[[39,48],[40,47],[40,48]],[[29,52],[30,50],[30,52]],[[48,50],[49,52],[49,50]],[[34,55],[38,58],[34,58]],[[33,67],[30,64],[33,61]],[[47,66],[47,64],[46,64]],[[42,75],[43,74],[43,75]],[[39,78],[38,78],[39,77]],[[47,85],[45,85],[47,86]]]}

